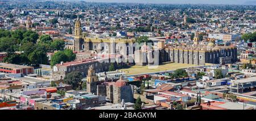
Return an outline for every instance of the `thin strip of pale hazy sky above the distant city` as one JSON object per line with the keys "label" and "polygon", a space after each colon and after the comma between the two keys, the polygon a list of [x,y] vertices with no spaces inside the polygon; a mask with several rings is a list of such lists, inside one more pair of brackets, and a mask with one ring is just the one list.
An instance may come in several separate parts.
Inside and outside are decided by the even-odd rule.
{"label": "thin strip of pale hazy sky above the distant city", "polygon": [[131,2],[131,3],[171,3],[171,4],[256,4],[256,0],[84,0],[87,2]]}

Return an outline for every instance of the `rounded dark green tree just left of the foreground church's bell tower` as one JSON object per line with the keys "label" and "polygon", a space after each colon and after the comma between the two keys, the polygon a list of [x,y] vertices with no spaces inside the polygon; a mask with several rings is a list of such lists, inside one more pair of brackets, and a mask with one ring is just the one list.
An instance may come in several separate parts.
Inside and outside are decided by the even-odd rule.
{"label": "rounded dark green tree just left of the foreground church's bell tower", "polygon": [[74,90],[77,89],[77,87],[80,87],[81,81],[82,81],[81,72],[68,73],[64,78],[65,84],[72,85],[72,89]]}

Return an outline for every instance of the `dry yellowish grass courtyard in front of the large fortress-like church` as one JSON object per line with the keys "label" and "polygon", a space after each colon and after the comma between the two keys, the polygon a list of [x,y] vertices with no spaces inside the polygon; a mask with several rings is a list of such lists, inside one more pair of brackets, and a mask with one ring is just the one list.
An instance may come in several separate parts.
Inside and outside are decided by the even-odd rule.
{"label": "dry yellowish grass courtyard in front of the large fortress-like church", "polygon": [[158,65],[157,68],[151,69],[148,66],[140,66],[134,65],[127,69],[121,69],[123,72],[126,73],[127,76],[135,75],[135,74],[144,74],[144,73],[158,73],[158,72],[165,72],[170,70],[176,70],[180,68],[190,68],[194,66],[200,65],[193,65],[193,64],[179,64],[176,62],[164,62],[162,65]]}

